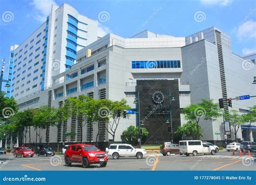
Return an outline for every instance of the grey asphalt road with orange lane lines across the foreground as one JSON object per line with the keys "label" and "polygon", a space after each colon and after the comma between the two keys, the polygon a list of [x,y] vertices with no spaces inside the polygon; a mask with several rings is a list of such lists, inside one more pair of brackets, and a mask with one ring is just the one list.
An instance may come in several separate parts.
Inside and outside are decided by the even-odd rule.
{"label": "grey asphalt road with orange lane lines across the foreground", "polygon": [[136,157],[120,157],[118,160],[109,158],[106,167],[91,165],[64,165],[64,156],[53,157],[33,156],[15,157],[11,154],[0,155],[0,170],[255,170],[256,152],[239,156],[239,152],[220,151],[215,155],[171,155],[149,154],[143,159]]}

